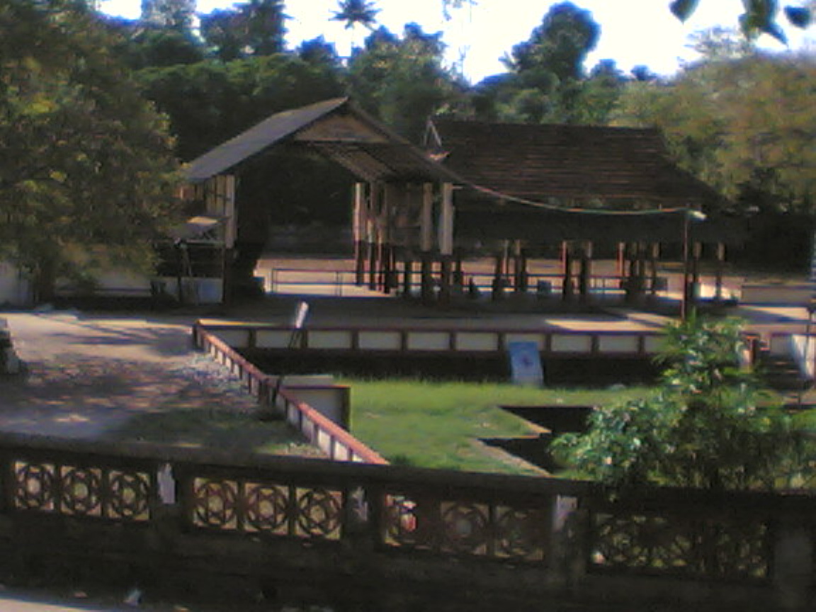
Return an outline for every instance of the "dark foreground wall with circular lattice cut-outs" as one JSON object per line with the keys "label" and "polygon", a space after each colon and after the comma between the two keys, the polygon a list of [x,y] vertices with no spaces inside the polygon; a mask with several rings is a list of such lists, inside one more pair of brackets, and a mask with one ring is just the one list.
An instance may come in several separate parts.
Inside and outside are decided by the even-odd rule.
{"label": "dark foreground wall with circular lattice cut-outs", "polygon": [[816,592],[806,494],[610,497],[540,477],[5,433],[0,470],[4,575],[147,592],[241,580],[277,603],[353,610],[804,612]]}

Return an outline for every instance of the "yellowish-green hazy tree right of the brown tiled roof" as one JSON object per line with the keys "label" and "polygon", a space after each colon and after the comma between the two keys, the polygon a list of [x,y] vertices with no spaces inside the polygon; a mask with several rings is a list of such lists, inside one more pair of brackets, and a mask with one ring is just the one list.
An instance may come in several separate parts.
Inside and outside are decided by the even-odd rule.
{"label": "yellowish-green hazy tree right of the brown tiled roof", "polygon": [[628,86],[614,122],[659,126],[681,165],[745,208],[813,213],[816,58],[714,53],[674,82]]}

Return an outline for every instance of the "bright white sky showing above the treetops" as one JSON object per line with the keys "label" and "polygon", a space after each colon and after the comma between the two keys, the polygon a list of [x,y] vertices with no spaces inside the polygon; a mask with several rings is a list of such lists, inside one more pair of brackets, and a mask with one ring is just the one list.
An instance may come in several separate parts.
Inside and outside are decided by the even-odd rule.
{"label": "bright white sky showing above the treetops", "polygon": [[[792,3],[796,0],[792,0]],[[449,62],[459,63],[472,82],[490,74],[503,72],[499,59],[509,53],[514,44],[530,37],[541,23],[549,7],[557,2],[540,0],[477,0],[475,7],[463,7],[453,12],[452,19],[442,16],[441,0],[379,0],[377,18],[394,33],[411,21],[425,32],[444,32]],[[631,70],[645,64],[653,72],[672,74],[681,63],[694,60],[687,45],[691,33],[715,25],[736,28],[742,12],[742,0],[702,0],[694,16],[679,22],[668,10],[669,0],[573,0],[592,12],[601,25],[601,39],[596,51],[589,56],[587,68],[598,60],[613,59],[619,69]],[[141,0],[100,0],[101,8],[112,14],[135,18],[139,16]],[[228,7],[230,0],[198,0],[198,11]],[[361,45],[368,31],[360,26],[344,29],[331,21],[337,0],[287,0],[287,42],[296,47],[299,42],[322,35],[334,42],[340,55],[348,55],[353,44]],[[816,26],[802,32],[785,26],[792,48],[816,49]],[[783,51],[786,47],[773,38],[761,38],[762,46]],[[463,60],[462,60],[463,59]]]}

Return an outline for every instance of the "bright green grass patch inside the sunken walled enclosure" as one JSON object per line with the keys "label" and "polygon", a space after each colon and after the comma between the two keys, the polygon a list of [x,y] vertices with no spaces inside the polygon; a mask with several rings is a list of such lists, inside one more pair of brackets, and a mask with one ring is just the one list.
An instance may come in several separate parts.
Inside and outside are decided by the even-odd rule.
{"label": "bright green grass patch inside the sunken walled enclosure", "polygon": [[588,390],[394,379],[342,382],[352,388],[353,435],[392,463],[517,474],[543,472],[480,439],[536,436],[540,430],[498,406],[594,406],[650,392],[642,387]]}

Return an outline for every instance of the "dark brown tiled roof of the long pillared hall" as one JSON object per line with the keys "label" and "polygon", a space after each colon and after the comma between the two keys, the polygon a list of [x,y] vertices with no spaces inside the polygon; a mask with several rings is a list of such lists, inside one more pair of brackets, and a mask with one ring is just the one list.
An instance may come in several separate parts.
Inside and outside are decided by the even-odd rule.
{"label": "dark brown tiled roof of the long pillared hall", "polygon": [[652,129],[435,118],[429,134],[434,158],[464,180],[523,200],[688,206],[720,199],[670,160]]}

